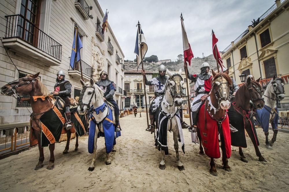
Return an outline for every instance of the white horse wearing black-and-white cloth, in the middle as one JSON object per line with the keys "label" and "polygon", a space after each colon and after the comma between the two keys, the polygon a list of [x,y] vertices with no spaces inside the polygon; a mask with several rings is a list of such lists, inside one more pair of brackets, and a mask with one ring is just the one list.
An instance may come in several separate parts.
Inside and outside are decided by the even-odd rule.
{"label": "white horse wearing black-and-white cloth, in the middle", "polygon": [[[183,133],[181,129],[181,123],[179,119],[178,107],[181,107],[183,104],[183,78],[181,77],[181,69],[179,73],[172,74],[168,69],[166,70],[168,74],[168,79],[166,84],[164,85],[164,98],[161,101],[161,105],[158,108],[157,114],[157,137],[155,139],[155,145],[158,146],[158,149],[162,151],[162,160],[160,162],[159,168],[165,169],[165,161],[164,157],[168,154],[168,147],[165,145],[161,139],[161,134],[167,134],[167,131],[173,132],[174,138],[174,148],[176,151],[177,157],[177,166],[179,170],[185,170],[184,165],[181,162],[179,156],[179,144],[178,144],[178,136],[180,135],[182,149],[183,148]],[[166,123],[167,122],[167,123]],[[165,123],[164,126],[161,126],[162,123]],[[166,136],[164,136],[166,138]]]}

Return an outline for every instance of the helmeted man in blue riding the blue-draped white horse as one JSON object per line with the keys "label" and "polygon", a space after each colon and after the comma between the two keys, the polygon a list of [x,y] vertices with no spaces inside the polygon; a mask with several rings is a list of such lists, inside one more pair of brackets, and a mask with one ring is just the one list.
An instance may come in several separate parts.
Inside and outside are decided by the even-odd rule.
{"label": "helmeted man in blue riding the blue-draped white horse", "polygon": [[121,131],[119,128],[119,108],[116,104],[115,100],[113,99],[114,92],[116,91],[116,88],[114,87],[113,81],[110,81],[108,79],[108,72],[101,71],[100,73],[100,80],[97,81],[95,84],[97,84],[101,90],[104,92],[104,101],[110,102],[114,106],[114,115],[115,115],[115,126],[114,130],[115,132]]}

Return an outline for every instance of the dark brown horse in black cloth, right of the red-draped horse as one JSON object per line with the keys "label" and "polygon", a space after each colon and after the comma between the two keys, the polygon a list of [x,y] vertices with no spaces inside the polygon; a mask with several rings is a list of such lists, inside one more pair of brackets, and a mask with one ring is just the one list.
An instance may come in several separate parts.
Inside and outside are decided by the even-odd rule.
{"label": "dark brown horse in black cloth, right of the red-draped horse", "polygon": [[[259,81],[260,78],[257,81],[248,78],[247,82],[237,91],[232,106],[228,110],[229,122],[238,130],[237,132],[231,133],[231,145],[239,147],[241,161],[245,163],[248,163],[242,151],[242,147],[247,147],[245,130],[255,147],[259,161],[266,162],[258,148],[259,141],[253,119],[254,109],[262,109],[264,107],[264,101],[262,99],[263,89]],[[250,103],[250,100],[252,103]]]}

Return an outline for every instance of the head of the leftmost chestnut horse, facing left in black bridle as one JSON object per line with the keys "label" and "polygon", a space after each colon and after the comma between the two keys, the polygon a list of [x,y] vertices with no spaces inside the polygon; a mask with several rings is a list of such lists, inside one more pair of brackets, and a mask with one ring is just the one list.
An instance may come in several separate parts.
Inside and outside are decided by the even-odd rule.
{"label": "head of the leftmost chestnut horse, facing left in black bridle", "polygon": [[19,94],[29,94],[34,89],[34,82],[38,81],[39,73],[34,75],[27,75],[25,77],[11,81],[1,87],[1,94],[19,98]]}

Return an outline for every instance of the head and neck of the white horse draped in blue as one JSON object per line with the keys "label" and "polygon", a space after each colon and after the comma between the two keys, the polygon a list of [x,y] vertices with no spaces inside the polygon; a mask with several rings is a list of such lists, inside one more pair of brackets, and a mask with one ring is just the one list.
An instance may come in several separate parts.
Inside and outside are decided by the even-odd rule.
{"label": "head and neck of the white horse draped in blue", "polygon": [[103,91],[99,86],[94,84],[92,78],[87,82],[80,79],[80,83],[82,85],[82,90],[78,99],[77,110],[80,115],[84,115],[88,112],[92,104],[95,104],[99,99],[103,101]]}

